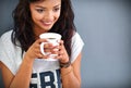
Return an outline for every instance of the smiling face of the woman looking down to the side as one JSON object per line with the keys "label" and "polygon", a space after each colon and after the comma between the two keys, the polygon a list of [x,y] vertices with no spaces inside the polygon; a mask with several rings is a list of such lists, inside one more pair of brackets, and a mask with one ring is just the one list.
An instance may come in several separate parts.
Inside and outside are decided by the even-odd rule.
{"label": "smiling face of the woman looking down to the side", "polygon": [[61,11],[61,0],[44,0],[29,4],[34,30],[48,32],[58,21]]}

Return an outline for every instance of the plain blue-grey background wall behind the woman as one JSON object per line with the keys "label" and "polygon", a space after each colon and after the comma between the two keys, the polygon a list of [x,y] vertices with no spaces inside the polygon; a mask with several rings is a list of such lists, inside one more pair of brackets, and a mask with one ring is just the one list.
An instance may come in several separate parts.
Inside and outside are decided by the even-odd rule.
{"label": "plain blue-grey background wall behind the woman", "polygon": [[[0,35],[11,28],[11,12],[16,2],[0,2]],[[72,2],[75,25],[85,42],[82,88],[131,88],[131,1]]]}

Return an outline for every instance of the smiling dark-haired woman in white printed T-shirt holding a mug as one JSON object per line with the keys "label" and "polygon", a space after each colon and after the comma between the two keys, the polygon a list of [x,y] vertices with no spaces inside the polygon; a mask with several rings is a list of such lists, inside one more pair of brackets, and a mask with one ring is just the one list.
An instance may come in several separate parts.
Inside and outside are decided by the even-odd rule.
{"label": "smiling dark-haired woman in white printed T-shirt holding a mug", "polygon": [[[0,60],[5,88],[80,88],[83,41],[74,27],[70,0],[20,0],[13,12],[14,28],[0,39]],[[45,45],[58,54],[46,61],[38,36],[58,33],[60,46]],[[57,51],[56,51],[57,50]]]}

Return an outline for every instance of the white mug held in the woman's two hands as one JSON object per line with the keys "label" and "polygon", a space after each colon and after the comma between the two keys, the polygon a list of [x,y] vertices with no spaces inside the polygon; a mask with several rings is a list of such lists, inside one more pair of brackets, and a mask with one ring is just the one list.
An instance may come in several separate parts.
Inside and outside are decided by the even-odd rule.
{"label": "white mug held in the woman's two hands", "polygon": [[[60,34],[57,34],[57,33],[44,33],[41,35],[39,35],[39,38],[45,38],[47,39],[47,42],[41,42],[40,43],[40,52],[44,54],[44,55],[47,55],[48,53],[50,52],[45,52],[44,50],[44,46],[45,43],[52,43],[53,46],[59,46],[59,40],[61,39],[61,35]],[[53,58],[58,55],[58,54],[50,54],[49,58],[50,59],[46,59],[48,61],[56,61]]]}

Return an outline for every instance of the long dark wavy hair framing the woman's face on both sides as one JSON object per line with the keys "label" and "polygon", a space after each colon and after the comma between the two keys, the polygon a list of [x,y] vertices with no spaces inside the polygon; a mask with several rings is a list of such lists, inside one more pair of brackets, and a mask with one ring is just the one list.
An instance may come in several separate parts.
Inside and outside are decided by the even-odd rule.
{"label": "long dark wavy hair framing the woman's face on both sides", "polygon": [[[20,0],[15,10],[13,11],[14,28],[12,33],[12,42],[22,48],[22,53],[35,41],[35,33],[33,30],[33,20],[29,11],[29,3],[44,0]],[[71,56],[71,38],[76,30],[74,26],[74,13],[70,0],[61,0],[61,13],[58,21],[55,23],[51,33],[62,35],[64,47],[69,56]]]}

